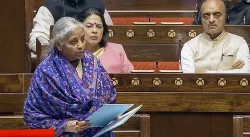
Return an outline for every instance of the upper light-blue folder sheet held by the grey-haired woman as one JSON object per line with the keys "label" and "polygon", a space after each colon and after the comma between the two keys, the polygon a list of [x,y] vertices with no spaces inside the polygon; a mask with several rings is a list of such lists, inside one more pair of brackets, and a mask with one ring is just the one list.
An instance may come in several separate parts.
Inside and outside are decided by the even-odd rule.
{"label": "upper light-blue folder sheet held by the grey-haired woman", "polygon": [[134,104],[105,104],[86,120],[89,120],[91,127],[105,127],[133,105]]}

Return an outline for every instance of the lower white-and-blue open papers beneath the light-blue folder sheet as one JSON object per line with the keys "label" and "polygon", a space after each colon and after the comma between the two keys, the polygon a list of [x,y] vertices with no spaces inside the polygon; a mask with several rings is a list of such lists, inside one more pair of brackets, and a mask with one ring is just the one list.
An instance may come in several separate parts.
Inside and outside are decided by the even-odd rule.
{"label": "lower white-and-blue open papers beneath the light-blue folder sheet", "polygon": [[142,107],[142,105],[134,108],[133,110],[129,111],[128,113],[118,117],[117,120],[112,121],[111,123],[109,123],[107,126],[105,126],[103,129],[101,129],[99,132],[97,132],[93,137],[99,137],[102,134],[111,131],[113,129],[115,129],[116,127],[124,124],[131,116],[133,116],[140,108]]}

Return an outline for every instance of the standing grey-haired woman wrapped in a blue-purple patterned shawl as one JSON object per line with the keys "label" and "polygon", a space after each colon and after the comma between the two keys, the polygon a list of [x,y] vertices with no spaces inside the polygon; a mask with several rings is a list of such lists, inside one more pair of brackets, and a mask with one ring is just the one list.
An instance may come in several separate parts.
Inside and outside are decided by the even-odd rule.
{"label": "standing grey-haired woman wrapped in a blue-purple patterned shawl", "polygon": [[115,103],[115,88],[101,63],[84,51],[81,23],[64,17],[53,36],[49,56],[33,74],[24,122],[30,128],[54,128],[55,136],[91,137],[100,128],[89,128],[85,119],[103,104]]}

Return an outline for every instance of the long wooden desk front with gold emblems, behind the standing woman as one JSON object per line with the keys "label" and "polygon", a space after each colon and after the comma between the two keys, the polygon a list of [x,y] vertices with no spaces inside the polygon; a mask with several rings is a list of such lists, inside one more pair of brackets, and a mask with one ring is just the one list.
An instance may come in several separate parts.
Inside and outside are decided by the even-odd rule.
{"label": "long wooden desk front with gold emblems, behind the standing woman", "polygon": [[[0,104],[6,104],[8,110],[20,111],[31,76],[0,75]],[[110,74],[110,77],[118,83],[118,103],[143,104],[140,113],[150,114],[151,137],[232,137],[233,115],[250,112],[250,74]],[[132,80],[141,84],[132,85]],[[0,112],[6,112],[6,107],[0,106]]]}

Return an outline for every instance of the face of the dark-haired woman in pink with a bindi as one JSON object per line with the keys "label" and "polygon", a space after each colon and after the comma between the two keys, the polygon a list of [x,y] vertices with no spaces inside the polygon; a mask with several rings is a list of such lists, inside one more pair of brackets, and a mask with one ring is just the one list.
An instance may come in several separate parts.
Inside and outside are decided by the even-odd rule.
{"label": "face of the dark-haired woman in pink with a bindi", "polygon": [[99,45],[103,36],[102,19],[95,14],[88,16],[83,22],[86,44],[89,46]]}

